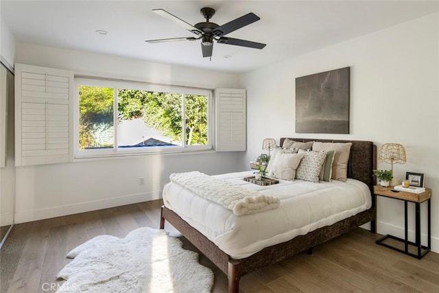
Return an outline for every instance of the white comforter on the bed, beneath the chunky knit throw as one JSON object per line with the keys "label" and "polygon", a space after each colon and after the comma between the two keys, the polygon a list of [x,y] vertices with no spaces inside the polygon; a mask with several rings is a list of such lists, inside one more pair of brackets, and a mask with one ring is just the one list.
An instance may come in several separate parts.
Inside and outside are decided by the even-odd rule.
{"label": "white comforter on the bed, beneath the chunky knit throw", "polygon": [[276,185],[259,186],[243,180],[251,175],[252,172],[239,172],[215,178],[276,196],[281,200],[277,209],[237,216],[177,183],[165,185],[163,202],[235,259],[329,226],[371,206],[370,191],[358,180],[348,179],[346,183],[279,180]]}

